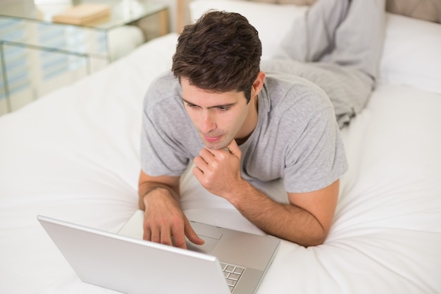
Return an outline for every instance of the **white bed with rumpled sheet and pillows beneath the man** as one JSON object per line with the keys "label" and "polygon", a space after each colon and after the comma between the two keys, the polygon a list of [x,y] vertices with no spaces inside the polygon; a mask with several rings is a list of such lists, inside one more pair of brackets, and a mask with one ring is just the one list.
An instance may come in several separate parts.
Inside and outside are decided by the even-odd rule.
{"label": "white bed with rumpled sheet and pillows beneath the man", "polygon": [[[265,59],[304,11],[206,0],[192,15],[207,6],[247,16]],[[82,283],[36,216],[116,232],[135,212],[142,99],[176,39],[0,117],[0,293],[114,293]],[[388,13],[380,85],[342,130],[350,167],[330,235],[317,247],[282,241],[258,293],[441,293],[440,50],[440,24]],[[261,233],[190,174],[182,201],[190,219]]]}

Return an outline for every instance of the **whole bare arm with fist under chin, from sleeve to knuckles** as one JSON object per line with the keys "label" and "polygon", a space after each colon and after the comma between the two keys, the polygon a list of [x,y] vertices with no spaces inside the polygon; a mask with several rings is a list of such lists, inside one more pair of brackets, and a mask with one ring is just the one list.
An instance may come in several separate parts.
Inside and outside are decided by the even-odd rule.
{"label": "whole bare arm with fist under chin, from sleeve to knuckles", "polygon": [[241,156],[235,140],[225,149],[201,149],[193,174],[206,190],[231,202],[266,233],[304,246],[322,244],[332,225],[339,180],[316,191],[287,192],[290,204],[282,204],[242,178]]}

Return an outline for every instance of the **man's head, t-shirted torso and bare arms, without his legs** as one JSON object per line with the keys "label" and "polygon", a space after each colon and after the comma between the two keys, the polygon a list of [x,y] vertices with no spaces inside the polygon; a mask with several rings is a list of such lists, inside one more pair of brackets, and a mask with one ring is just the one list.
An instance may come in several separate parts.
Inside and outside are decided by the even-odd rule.
{"label": "man's head, t-shirted torso and bare arms, without his legs", "polygon": [[[340,2],[341,16],[349,4]],[[313,82],[263,73],[260,56],[258,33],[237,13],[212,11],[185,27],[173,74],[159,77],[144,100],[144,239],[204,243],[180,208],[180,176],[193,163],[206,190],[266,233],[304,246],[324,242],[347,170],[333,105]],[[251,185],[278,178],[287,203]]]}

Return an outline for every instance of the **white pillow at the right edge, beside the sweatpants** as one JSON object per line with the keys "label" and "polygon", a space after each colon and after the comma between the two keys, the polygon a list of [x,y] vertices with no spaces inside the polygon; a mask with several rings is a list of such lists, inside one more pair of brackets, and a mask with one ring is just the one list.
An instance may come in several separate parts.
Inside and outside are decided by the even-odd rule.
{"label": "white pillow at the right edge, beside the sweatpants", "polygon": [[380,81],[441,93],[441,24],[388,13]]}

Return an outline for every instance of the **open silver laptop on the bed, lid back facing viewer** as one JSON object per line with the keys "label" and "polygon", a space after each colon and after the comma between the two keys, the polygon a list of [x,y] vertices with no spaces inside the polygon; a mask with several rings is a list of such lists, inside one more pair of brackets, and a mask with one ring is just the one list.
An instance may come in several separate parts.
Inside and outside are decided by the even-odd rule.
{"label": "open silver laptop on the bed, lid back facing viewer", "polygon": [[37,216],[77,276],[127,294],[252,294],[280,240],[190,221],[204,245],[188,250],[142,240],[144,212],[118,233]]}

